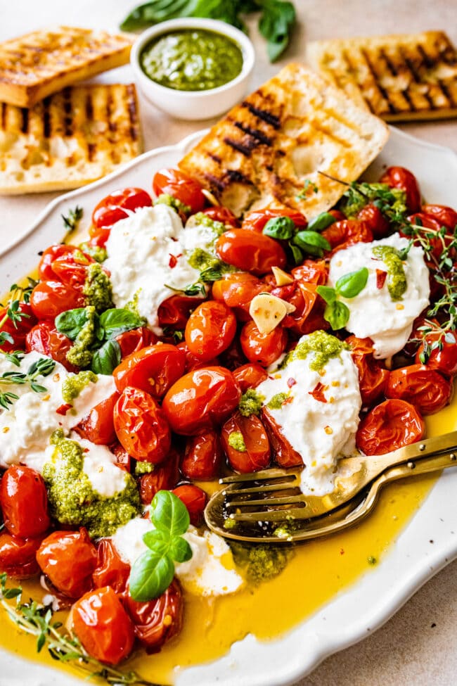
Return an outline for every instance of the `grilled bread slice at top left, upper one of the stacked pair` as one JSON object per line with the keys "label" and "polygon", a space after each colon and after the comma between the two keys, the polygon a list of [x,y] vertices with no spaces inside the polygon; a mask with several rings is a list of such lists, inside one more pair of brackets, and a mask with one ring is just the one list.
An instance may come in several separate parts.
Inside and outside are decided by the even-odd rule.
{"label": "grilled bread slice at top left, upper one of the stacked pair", "polygon": [[0,44],[0,101],[32,107],[51,93],[129,61],[131,39],[60,26]]}

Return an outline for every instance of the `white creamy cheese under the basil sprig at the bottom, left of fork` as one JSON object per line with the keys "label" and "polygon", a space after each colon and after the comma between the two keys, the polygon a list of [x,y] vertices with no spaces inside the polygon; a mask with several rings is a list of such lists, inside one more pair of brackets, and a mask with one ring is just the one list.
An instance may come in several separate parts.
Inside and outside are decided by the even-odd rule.
{"label": "white creamy cheese under the basil sprig at the bottom, left of fork", "polygon": [[[124,562],[132,565],[148,550],[143,535],[153,528],[149,519],[136,518],[117,529],[112,542]],[[186,591],[202,596],[228,595],[243,585],[223,538],[210,531],[200,535],[194,526],[189,526],[183,538],[191,546],[192,557],[176,564],[175,573]]]}

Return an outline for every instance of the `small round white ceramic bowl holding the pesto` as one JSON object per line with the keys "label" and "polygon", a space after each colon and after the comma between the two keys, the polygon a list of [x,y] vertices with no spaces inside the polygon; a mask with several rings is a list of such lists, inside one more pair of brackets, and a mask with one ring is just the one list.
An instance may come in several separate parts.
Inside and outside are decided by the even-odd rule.
{"label": "small round white ceramic bowl holding the pesto", "polygon": [[[223,86],[207,91],[179,91],[150,79],[140,66],[143,48],[155,37],[181,29],[202,29],[231,38],[243,54],[243,68],[238,76]],[[156,24],[136,39],[130,53],[130,63],[136,82],[150,103],[179,119],[198,120],[217,117],[240,101],[249,87],[254,68],[255,52],[250,39],[235,27],[214,19],[172,19]]]}

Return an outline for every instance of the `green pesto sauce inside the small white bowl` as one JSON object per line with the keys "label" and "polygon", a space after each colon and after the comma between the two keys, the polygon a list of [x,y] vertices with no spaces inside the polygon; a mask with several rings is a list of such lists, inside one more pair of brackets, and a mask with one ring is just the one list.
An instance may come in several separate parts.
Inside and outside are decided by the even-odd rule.
{"label": "green pesto sauce inside the small white bowl", "polygon": [[140,65],[151,80],[178,91],[207,91],[233,80],[243,53],[215,31],[188,29],[157,36],[141,52]]}

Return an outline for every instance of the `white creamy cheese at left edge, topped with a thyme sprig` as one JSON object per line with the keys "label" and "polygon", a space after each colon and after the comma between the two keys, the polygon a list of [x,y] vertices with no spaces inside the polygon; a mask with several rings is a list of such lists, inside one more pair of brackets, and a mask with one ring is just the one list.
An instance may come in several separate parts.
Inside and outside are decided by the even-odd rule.
{"label": "white creamy cheese at left edge, topped with a thyme sprig", "polygon": [[[0,374],[6,371],[27,373],[30,365],[44,357],[38,352],[27,352],[15,367],[4,355],[0,357]],[[63,381],[71,376],[62,364],[56,366],[49,376],[39,376],[37,382],[44,386],[44,393],[36,393],[29,384],[1,386],[2,391],[8,390],[19,396],[13,400],[8,409],[0,412],[0,466],[10,464],[26,464],[37,471],[45,461],[46,447],[53,431],[61,428],[65,435],[76,426],[89,410],[98,402],[105,400],[115,392],[112,376],[100,375],[96,383],[88,383],[78,398],[72,401],[73,407],[66,414],[58,414],[57,410],[65,405],[62,398]]]}

